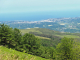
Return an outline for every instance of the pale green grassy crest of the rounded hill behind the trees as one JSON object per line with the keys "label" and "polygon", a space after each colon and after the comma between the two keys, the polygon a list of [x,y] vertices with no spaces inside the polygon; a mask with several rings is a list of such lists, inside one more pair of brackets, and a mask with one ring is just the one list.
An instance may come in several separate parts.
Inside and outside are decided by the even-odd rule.
{"label": "pale green grassy crest of the rounded hill behind the trees", "polygon": [[44,29],[44,28],[31,28],[31,29],[21,29],[22,33],[29,33],[29,32],[37,32],[39,34],[49,34],[49,35],[55,35],[58,37],[68,37],[68,38],[80,38],[80,34],[78,33],[61,33],[58,31],[53,31],[50,29]]}

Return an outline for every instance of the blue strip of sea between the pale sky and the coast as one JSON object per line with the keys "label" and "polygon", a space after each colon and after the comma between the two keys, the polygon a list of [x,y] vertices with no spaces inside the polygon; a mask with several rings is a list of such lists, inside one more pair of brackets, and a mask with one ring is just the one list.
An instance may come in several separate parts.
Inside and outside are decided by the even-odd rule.
{"label": "blue strip of sea between the pale sky and the coast", "polygon": [[80,11],[44,11],[25,13],[2,13],[0,21],[40,21],[49,18],[80,17]]}

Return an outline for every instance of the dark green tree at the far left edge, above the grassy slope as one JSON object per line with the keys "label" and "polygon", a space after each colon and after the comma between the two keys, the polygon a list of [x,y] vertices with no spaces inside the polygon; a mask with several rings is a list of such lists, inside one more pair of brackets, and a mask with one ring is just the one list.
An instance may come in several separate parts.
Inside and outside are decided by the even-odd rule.
{"label": "dark green tree at the far left edge, above the grassy slope", "polygon": [[0,24],[0,44],[4,46],[12,45],[13,34],[12,28],[8,25]]}

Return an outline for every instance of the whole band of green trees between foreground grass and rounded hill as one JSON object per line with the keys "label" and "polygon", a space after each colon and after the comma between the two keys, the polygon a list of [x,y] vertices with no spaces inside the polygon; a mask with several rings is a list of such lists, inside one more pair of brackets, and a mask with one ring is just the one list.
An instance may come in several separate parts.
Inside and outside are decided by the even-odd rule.
{"label": "whole band of green trees between foreground grass and rounded hill", "polygon": [[[32,32],[31,32],[32,33]],[[11,28],[8,25],[0,24],[0,45],[7,48],[15,49],[31,55],[36,55],[51,60],[79,60],[80,59],[80,43],[73,38],[58,38],[52,35],[47,36],[55,41],[41,40],[36,37],[35,33],[23,34],[17,28]],[[37,34],[42,36],[41,34]],[[53,44],[55,43],[55,44]],[[47,45],[45,45],[47,44]]]}

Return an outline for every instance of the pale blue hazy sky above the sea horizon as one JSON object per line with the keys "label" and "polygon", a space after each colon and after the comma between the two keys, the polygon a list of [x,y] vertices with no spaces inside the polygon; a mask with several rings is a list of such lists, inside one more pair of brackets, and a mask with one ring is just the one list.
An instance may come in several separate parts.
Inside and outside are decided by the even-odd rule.
{"label": "pale blue hazy sky above the sea horizon", "polygon": [[0,13],[80,10],[80,0],[0,0]]}

